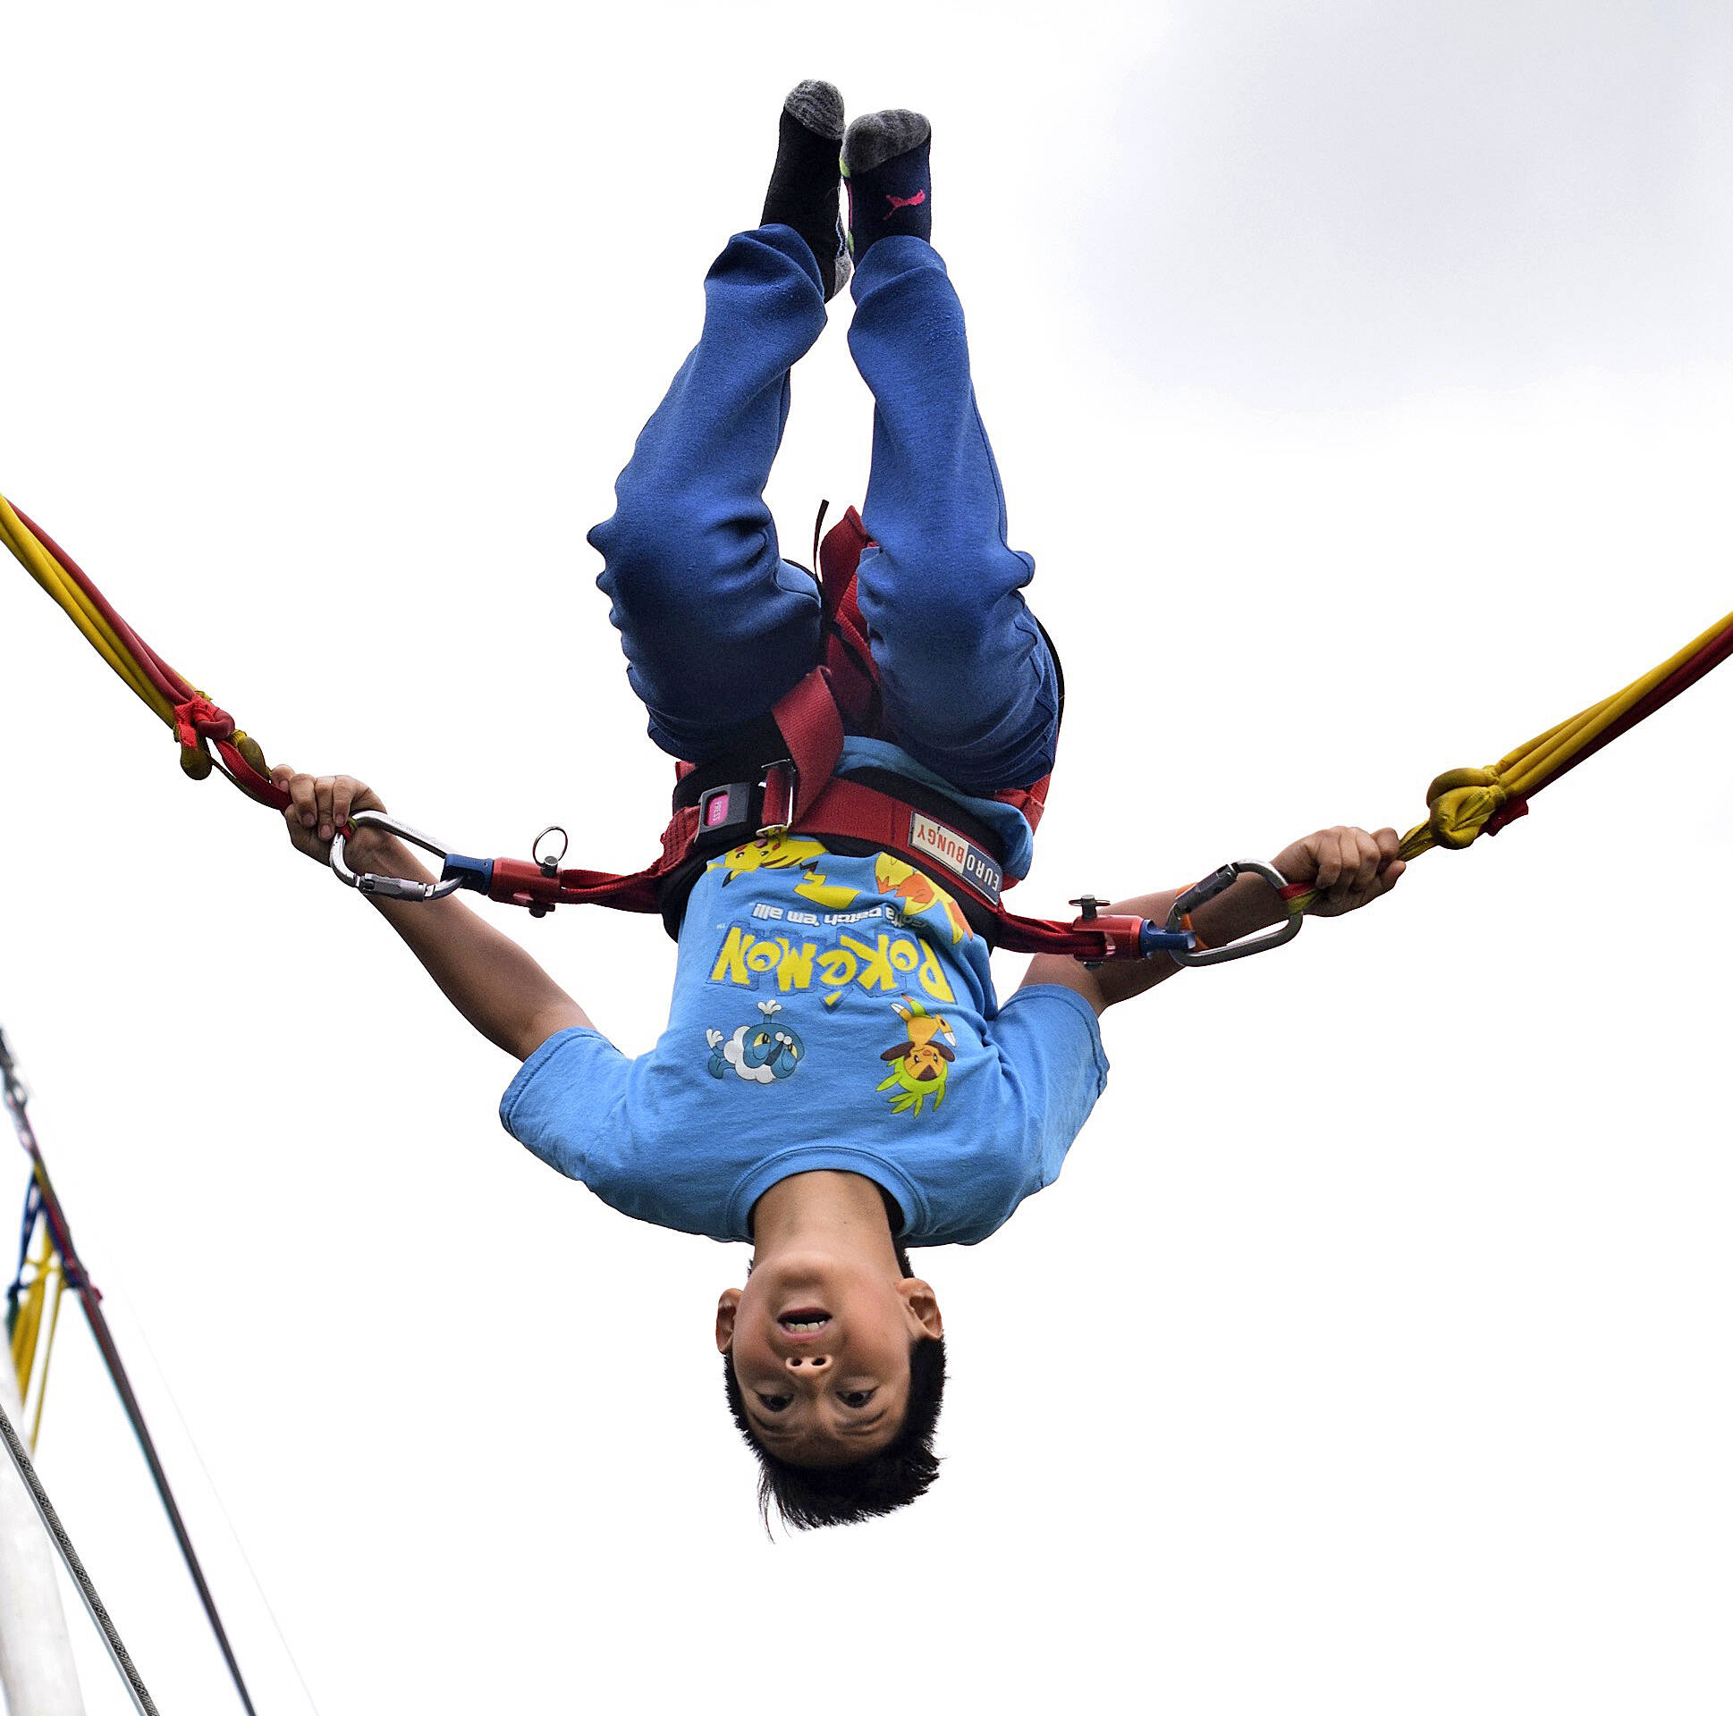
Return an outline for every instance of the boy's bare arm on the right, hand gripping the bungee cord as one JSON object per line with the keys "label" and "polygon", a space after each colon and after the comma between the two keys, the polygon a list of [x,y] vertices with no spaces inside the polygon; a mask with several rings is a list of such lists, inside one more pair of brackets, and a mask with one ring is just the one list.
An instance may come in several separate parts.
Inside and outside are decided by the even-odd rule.
{"label": "boy's bare arm on the right, hand gripping the bungee cord", "polygon": [[[1284,847],[1274,864],[1291,883],[1317,888],[1322,895],[1307,916],[1340,918],[1345,911],[1355,911],[1397,885],[1397,878],[1407,869],[1397,857],[1400,836],[1393,828],[1381,828],[1376,835],[1369,835],[1364,828],[1324,828]],[[1168,888],[1165,893],[1144,893],[1135,900],[1116,900],[1104,909],[1166,923],[1173,902],[1184,892],[1185,888]],[[1199,906],[1192,913],[1192,923],[1211,947],[1223,947],[1255,930],[1281,923],[1286,914],[1286,907],[1267,881],[1258,876],[1241,876],[1225,893]],[[1019,987],[1059,984],[1074,989],[1097,1013],[1104,1013],[1114,1003],[1130,1001],[1132,996],[1140,996],[1180,970],[1184,966],[1166,954],[1107,963],[1095,970],[1066,954],[1036,954]]]}

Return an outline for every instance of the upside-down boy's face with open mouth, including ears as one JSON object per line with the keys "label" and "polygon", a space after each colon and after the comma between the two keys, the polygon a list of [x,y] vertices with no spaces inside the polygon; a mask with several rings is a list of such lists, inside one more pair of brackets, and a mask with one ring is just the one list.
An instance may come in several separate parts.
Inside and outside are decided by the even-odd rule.
{"label": "upside-down boy's face with open mouth, including ears", "polygon": [[849,1465],[889,1446],[908,1411],[908,1351],[943,1332],[925,1281],[816,1252],[778,1254],[716,1307],[747,1418],[792,1465]]}

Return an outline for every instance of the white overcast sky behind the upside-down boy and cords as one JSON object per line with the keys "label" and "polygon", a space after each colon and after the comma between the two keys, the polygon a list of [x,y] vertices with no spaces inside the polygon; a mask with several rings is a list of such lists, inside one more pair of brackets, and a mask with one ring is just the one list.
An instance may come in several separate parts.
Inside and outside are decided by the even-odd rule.
{"label": "white overcast sky behind the upside-down boy and cords", "polygon": [[[274,758],[463,850],[653,847],[582,533],[802,76],[934,121],[1073,693],[1024,909],[1407,826],[1733,606],[1724,5],[165,0],[14,7],[3,61],[0,492]],[[771,488],[802,558],[865,487],[842,332]],[[308,1702],[213,1493],[326,1716],[1724,1711],[1730,713],[1111,1015],[1059,1184],[918,1257],[941,1482],[769,1545],[743,1252],[513,1145],[506,1058],[0,568],[0,1022],[260,1709]],[[506,926],[653,1041],[652,921]],[[71,1316],[55,1370],[147,1683],[234,1707]]]}

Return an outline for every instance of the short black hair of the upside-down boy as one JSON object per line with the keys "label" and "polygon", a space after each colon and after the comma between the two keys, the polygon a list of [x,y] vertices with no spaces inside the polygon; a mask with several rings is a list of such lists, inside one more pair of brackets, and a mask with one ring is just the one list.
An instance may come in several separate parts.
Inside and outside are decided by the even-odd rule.
{"label": "short black hair of the upside-down boy", "polygon": [[[896,1262],[903,1276],[915,1269],[901,1243]],[[745,1396],[735,1375],[733,1352],[723,1354],[723,1387],[747,1446],[759,1463],[759,1513],[769,1529],[771,1503],[785,1526],[808,1531],[815,1526],[851,1526],[856,1520],[894,1513],[924,1496],[939,1475],[932,1434],[944,1404],[944,1339],[917,1335],[908,1349],[908,1411],[892,1441],[865,1460],[841,1467],[795,1465],[773,1455],[752,1429]]]}

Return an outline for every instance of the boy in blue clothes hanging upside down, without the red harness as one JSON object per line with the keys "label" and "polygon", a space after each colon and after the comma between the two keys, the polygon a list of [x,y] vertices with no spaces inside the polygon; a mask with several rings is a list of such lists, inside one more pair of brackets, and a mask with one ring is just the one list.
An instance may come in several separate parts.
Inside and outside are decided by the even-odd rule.
{"label": "boy in blue clothes hanging upside down, without the red harness", "polygon": [[[705,764],[820,660],[818,585],[780,558],[763,494],[789,371],[853,270],[849,348],[875,400],[858,601],[882,719],[847,734],[835,772],[938,795],[1021,876],[1031,824],[995,795],[1054,765],[1059,663],[1022,599],[1033,561],[1005,544],[962,308],[929,242],[929,125],[877,113],[844,137],[828,83],[799,85],[780,125],[763,223],[711,268],[698,345],[589,533],[627,677],[657,745]],[[276,776],[291,840],[321,862],[352,812],[383,809],[347,776]],[[350,862],[426,876],[366,826]],[[1402,874],[1393,829],[1333,828],[1274,862],[1326,916]],[[1109,911],[1161,921],[1178,892]],[[634,1060],[456,899],[374,904],[523,1061],[501,1103],[513,1136],[627,1216],[752,1245],[716,1344],[761,1505],[792,1526],[886,1513],[932,1482],[944,1323],[906,1247],[984,1240],[1059,1174],[1107,1077],[1097,1016],[1178,970],[1042,954],[1000,1004],[941,862],[771,835],[698,874],[667,1030]],[[1196,914],[1213,945],[1282,916],[1251,876]]]}

